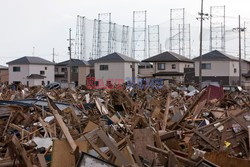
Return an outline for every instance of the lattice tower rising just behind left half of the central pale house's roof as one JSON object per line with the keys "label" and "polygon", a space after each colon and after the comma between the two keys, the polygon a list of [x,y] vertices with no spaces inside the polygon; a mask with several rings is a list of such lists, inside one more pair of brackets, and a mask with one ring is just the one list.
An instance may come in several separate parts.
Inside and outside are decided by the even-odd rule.
{"label": "lattice tower rising just behind left half of the central pale house's roof", "polygon": [[106,56],[111,53],[112,38],[111,13],[98,14],[98,40],[97,57]]}

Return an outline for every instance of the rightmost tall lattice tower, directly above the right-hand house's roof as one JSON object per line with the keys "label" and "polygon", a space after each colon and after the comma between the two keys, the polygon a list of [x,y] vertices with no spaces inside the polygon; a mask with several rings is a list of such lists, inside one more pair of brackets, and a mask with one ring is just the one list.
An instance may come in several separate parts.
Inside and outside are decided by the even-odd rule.
{"label": "rightmost tall lattice tower, directly above the right-hand house's roof", "polygon": [[225,6],[210,7],[210,51],[226,49]]}

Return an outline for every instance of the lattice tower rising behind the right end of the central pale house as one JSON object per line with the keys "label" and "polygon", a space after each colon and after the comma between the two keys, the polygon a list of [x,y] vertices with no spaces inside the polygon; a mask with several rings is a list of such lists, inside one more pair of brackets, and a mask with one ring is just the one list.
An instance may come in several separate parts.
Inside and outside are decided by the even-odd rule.
{"label": "lattice tower rising behind the right end of the central pale house", "polygon": [[147,11],[133,12],[132,57],[147,58]]}

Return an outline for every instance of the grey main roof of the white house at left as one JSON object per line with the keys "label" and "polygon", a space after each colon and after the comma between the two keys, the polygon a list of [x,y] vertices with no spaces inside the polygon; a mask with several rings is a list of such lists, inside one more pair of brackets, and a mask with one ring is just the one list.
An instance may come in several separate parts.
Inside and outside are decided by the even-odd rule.
{"label": "grey main roof of the white house at left", "polygon": [[24,56],[19,59],[10,61],[7,63],[8,65],[18,65],[18,64],[39,64],[39,65],[53,65],[51,61],[45,60],[40,57],[33,57],[33,56]]}

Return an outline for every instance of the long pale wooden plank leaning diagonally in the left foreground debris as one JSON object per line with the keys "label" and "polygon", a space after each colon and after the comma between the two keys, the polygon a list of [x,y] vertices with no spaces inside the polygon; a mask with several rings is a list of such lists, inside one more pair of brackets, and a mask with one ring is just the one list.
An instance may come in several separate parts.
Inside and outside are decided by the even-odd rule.
{"label": "long pale wooden plank leaning diagonally in the left foreground debris", "polygon": [[58,125],[61,127],[63,134],[65,135],[67,141],[69,142],[72,152],[77,153],[78,147],[75,141],[73,140],[72,136],[70,135],[68,127],[65,125],[65,123],[62,120],[61,115],[59,114],[59,112],[61,112],[60,109],[55,105],[55,103],[50,98],[47,98],[47,99],[48,99],[49,108],[53,112]]}

